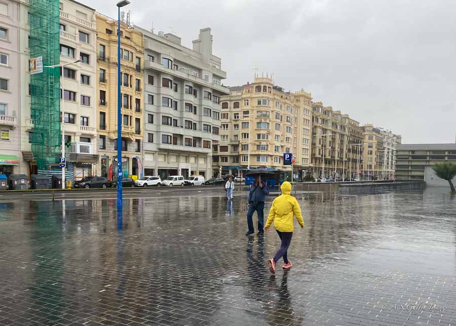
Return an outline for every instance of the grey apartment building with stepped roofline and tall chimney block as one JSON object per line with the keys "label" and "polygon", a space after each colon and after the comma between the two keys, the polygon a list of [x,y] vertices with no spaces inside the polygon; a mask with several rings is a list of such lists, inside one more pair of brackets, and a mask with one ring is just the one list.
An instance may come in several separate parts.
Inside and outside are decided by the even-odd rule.
{"label": "grey apartment building with stepped roofline and tall chimney block", "polygon": [[144,35],[144,172],[211,176],[219,142],[220,97],[229,94],[221,59],[212,54],[210,28],[189,49],[172,33]]}

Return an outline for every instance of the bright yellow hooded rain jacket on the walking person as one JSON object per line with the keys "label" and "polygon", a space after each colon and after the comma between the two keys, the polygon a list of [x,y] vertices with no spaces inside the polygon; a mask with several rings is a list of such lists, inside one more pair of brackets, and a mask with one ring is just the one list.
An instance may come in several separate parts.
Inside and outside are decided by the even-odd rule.
{"label": "bright yellow hooded rain jacket on the walking person", "polygon": [[265,227],[269,228],[274,221],[276,230],[280,232],[293,232],[294,215],[301,228],[303,228],[304,221],[302,220],[301,207],[299,207],[296,198],[290,195],[291,184],[284,182],[280,186],[280,190],[282,191],[282,195],[274,199]]}

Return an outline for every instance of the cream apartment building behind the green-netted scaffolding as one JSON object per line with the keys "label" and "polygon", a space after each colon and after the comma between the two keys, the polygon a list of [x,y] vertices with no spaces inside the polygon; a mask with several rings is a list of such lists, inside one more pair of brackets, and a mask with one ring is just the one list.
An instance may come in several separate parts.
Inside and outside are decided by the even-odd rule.
{"label": "cream apartment building behind the green-netted scaffolding", "polygon": [[[49,2],[48,2],[49,3]],[[52,5],[52,4],[51,4]],[[45,8],[45,3],[40,4]],[[39,9],[33,9],[39,16]],[[34,92],[30,86],[30,74],[28,72],[28,60],[30,57],[30,4],[28,1],[20,3],[20,173],[36,174],[37,161],[42,159],[40,153],[34,152],[32,144],[36,141],[37,126],[33,123],[31,102],[33,96],[48,96]],[[40,18],[40,17],[37,17]],[[60,71],[60,111],[64,108],[63,118],[52,122],[61,124],[64,128],[66,147],[65,156],[67,161],[67,177],[82,178],[95,172],[97,163],[97,139],[96,139],[96,21],[95,10],[72,0],[63,0],[59,3],[59,61],[63,68]],[[39,20],[39,19],[38,19]],[[54,22],[49,22],[53,24]],[[36,27],[35,27],[36,28]],[[53,28],[53,27],[52,27]],[[35,44],[40,40],[35,40]],[[43,43],[46,40],[42,40]],[[77,60],[81,62],[73,63]],[[46,64],[46,63],[44,63]],[[40,77],[39,77],[40,78]],[[62,87],[63,86],[63,87]],[[63,90],[62,90],[63,89]],[[58,127],[57,127],[58,128]],[[34,136],[35,133],[35,136]],[[55,162],[61,156],[61,136],[55,135],[59,142],[59,148]],[[46,140],[45,140],[46,142]],[[58,168],[46,166],[46,169]]]}

